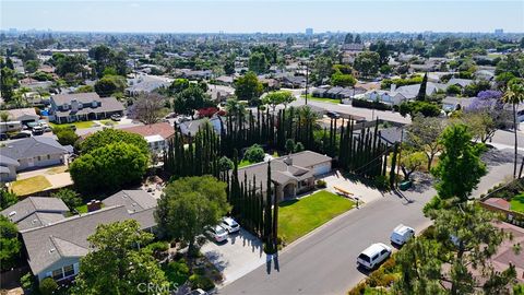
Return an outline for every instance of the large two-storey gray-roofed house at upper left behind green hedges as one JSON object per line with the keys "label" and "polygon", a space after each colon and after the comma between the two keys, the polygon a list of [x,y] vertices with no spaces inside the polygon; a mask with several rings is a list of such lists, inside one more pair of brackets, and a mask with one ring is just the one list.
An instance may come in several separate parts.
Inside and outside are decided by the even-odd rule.
{"label": "large two-storey gray-roofed house at upper left behind green hedges", "polygon": [[102,98],[95,92],[51,96],[49,119],[58,123],[99,120],[123,115],[122,103],[115,97]]}

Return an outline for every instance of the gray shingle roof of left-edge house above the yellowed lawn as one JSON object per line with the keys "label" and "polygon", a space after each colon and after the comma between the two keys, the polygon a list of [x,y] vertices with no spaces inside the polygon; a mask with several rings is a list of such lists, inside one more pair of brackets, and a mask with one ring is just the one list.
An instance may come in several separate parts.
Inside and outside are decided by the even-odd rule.
{"label": "gray shingle roof of left-edge house above the yellowed lawn", "polygon": [[21,139],[0,148],[0,155],[2,157],[10,157],[12,160],[67,153],[68,150],[66,148],[63,148],[53,138],[48,137],[32,137]]}

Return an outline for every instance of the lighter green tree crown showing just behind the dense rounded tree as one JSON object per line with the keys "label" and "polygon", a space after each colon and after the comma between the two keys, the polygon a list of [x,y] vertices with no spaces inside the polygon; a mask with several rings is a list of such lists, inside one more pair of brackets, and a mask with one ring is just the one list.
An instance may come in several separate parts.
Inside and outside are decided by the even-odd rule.
{"label": "lighter green tree crown showing just behind the dense rounded tree", "polygon": [[140,151],[147,155],[150,153],[150,148],[147,146],[147,142],[144,138],[140,134],[127,132],[119,129],[104,129],[102,131],[97,131],[91,135],[88,135],[82,143],[81,149],[82,153],[90,153],[98,148],[103,148],[105,145],[117,143],[117,142],[124,142],[132,145],[135,145],[140,149]]}

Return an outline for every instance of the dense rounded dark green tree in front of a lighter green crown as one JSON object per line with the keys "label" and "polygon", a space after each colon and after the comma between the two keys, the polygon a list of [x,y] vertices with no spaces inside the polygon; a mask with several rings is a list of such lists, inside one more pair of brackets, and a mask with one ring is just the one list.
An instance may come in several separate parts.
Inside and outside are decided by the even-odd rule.
{"label": "dense rounded dark green tree in front of a lighter green crown", "polygon": [[136,145],[116,142],[78,157],[70,166],[80,191],[115,190],[138,184],[147,169],[148,157]]}

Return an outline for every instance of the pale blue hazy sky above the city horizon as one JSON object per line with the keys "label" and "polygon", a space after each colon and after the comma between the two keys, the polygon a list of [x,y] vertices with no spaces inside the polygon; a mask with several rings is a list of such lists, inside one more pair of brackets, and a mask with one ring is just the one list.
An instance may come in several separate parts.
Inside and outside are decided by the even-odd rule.
{"label": "pale blue hazy sky above the city horizon", "polygon": [[83,32],[524,32],[524,1],[0,0],[0,27]]}

